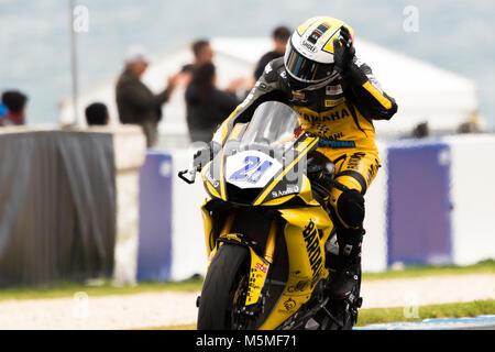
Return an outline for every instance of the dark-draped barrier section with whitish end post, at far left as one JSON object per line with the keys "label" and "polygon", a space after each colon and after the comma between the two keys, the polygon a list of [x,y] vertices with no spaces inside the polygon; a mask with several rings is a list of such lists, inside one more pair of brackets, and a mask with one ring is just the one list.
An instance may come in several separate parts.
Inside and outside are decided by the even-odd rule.
{"label": "dark-draped barrier section with whitish end post, at far left", "polygon": [[134,283],[139,128],[0,129],[0,286]]}

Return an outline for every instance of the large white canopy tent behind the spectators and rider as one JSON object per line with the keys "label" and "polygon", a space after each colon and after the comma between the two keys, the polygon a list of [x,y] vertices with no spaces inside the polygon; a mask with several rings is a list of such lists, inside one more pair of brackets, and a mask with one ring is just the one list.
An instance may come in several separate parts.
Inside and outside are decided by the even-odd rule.
{"label": "large white canopy tent behind the spectators and rider", "polygon": [[[271,50],[272,42],[271,38],[219,37],[211,40],[211,45],[216,53],[218,84],[224,87],[232,79],[250,77],[257,59]],[[358,40],[355,46],[356,55],[372,67],[384,90],[399,107],[392,121],[375,123],[378,136],[408,133],[424,121],[428,121],[431,131],[455,131],[477,110],[477,88],[473,80],[365,41]],[[153,58],[143,81],[152,90],[160,91],[165,87],[167,76],[191,61],[190,45],[179,46]],[[116,80],[117,76],[110,77],[80,92],[79,119],[84,119],[82,110],[87,105],[101,101],[109,107],[111,123],[119,123]],[[74,121],[72,103],[70,97],[61,102],[59,121],[84,125],[85,121]],[[164,106],[160,125],[163,141],[174,145],[188,143],[185,114],[184,88],[178,88]]]}

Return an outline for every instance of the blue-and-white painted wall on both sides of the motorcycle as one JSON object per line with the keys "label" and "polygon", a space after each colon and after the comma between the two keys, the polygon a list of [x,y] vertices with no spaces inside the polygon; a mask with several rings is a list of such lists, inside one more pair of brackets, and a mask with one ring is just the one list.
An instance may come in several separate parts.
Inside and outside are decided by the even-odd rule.
{"label": "blue-and-white painted wall on both sides of the motorcycle", "polygon": [[[365,271],[380,272],[397,264],[468,265],[495,258],[495,164],[491,163],[495,135],[380,142],[378,150],[382,167],[365,196]],[[145,277],[184,279],[205,273],[199,208],[207,195],[201,182],[187,185],[177,177],[178,170],[190,166],[191,157],[193,151],[186,150],[147,155],[142,175],[163,179],[141,183],[141,211],[148,204],[160,207],[150,223],[160,220],[162,226],[140,235],[153,251],[165,243],[172,249],[155,256],[152,250],[140,250],[140,256],[148,261],[147,268],[153,267],[153,257],[155,261],[155,273]],[[156,164],[158,160],[162,166]],[[158,184],[163,188],[155,186]],[[158,206],[153,199],[163,189],[170,194]],[[150,244],[154,241],[156,246]]]}

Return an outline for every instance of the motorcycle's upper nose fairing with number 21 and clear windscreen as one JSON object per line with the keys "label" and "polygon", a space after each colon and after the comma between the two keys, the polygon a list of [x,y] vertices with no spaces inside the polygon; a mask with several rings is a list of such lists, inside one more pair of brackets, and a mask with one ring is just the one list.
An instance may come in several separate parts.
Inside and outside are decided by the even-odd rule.
{"label": "motorcycle's upper nose fairing with number 21 and clear windscreen", "polygon": [[319,139],[297,135],[297,129],[298,114],[289,107],[279,102],[261,105],[251,123],[235,127],[222,151],[204,167],[208,195],[252,206],[277,206],[298,194],[304,201],[311,201],[304,173],[306,157]]}

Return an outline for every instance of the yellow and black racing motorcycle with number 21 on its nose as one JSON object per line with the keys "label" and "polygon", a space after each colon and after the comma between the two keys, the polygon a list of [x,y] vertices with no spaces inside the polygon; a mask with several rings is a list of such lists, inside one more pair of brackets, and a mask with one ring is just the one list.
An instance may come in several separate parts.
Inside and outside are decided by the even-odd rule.
{"label": "yellow and black racing motorcycle with number 21 on its nose", "polygon": [[345,186],[298,125],[292,108],[264,102],[204,167],[179,173],[194,183],[201,168],[209,195],[198,329],[339,330],[358,319],[360,285],[327,295],[339,253],[329,188]]}

